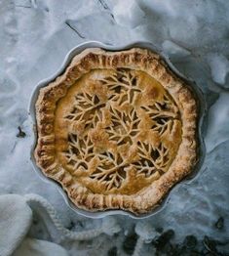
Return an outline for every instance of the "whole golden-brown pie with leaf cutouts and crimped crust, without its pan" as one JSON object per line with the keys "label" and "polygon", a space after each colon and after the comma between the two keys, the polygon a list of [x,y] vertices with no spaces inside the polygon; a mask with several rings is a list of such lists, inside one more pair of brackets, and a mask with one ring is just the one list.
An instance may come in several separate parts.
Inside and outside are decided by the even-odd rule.
{"label": "whole golden-brown pie with leaf cutouts and crimped crust, without its pan", "polygon": [[158,206],[197,162],[193,90],[146,49],[86,49],[39,91],[34,155],[89,211]]}

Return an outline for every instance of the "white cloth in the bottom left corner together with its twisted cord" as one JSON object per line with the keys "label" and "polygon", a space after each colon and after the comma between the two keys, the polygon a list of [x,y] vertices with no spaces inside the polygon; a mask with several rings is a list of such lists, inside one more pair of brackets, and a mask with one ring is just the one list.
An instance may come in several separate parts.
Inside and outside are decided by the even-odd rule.
{"label": "white cloth in the bottom left corner together with its twisted cord", "polygon": [[64,228],[56,209],[38,194],[0,195],[0,256],[66,256],[67,251],[56,243],[26,237],[31,226],[32,211],[28,206],[38,203],[56,228],[60,240],[87,240],[100,234],[114,235],[121,231],[116,219],[107,217],[101,226],[90,231],[72,232]]}

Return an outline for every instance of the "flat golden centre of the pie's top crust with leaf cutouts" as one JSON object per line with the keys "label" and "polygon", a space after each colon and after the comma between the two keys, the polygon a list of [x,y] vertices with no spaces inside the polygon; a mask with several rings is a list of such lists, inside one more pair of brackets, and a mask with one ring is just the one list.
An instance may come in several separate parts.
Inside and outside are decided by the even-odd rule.
{"label": "flat golden centre of the pie's top crust with leaf cutouts", "polygon": [[133,179],[145,186],[168,171],[179,144],[172,142],[181,126],[179,111],[162,85],[145,75],[107,70],[74,95],[64,116],[71,129],[62,154],[86,186],[122,192]]}

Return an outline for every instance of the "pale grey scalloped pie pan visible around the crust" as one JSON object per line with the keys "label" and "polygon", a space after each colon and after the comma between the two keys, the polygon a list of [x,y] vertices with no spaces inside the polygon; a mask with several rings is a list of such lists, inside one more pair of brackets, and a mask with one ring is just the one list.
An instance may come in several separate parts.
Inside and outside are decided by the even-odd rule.
{"label": "pale grey scalloped pie pan visible around the crust", "polygon": [[169,65],[169,67],[172,69],[172,71],[177,76],[179,76],[182,80],[185,81],[185,83],[194,92],[194,94],[195,94],[195,96],[196,96],[196,98],[198,99],[198,102],[199,102],[199,120],[198,120],[198,136],[199,136],[199,138],[198,138],[198,140],[199,140],[199,149],[198,149],[199,152],[198,152],[198,154],[199,154],[199,161],[196,164],[196,166],[194,167],[194,170],[192,171],[192,173],[189,176],[187,176],[184,180],[182,180],[181,182],[176,184],[173,188],[177,188],[177,187],[179,187],[179,186],[181,186],[185,183],[188,183],[191,179],[193,179],[194,177],[197,177],[198,174],[200,173],[199,170],[201,169],[201,166],[202,166],[204,158],[205,158],[205,145],[204,145],[204,140],[202,138],[202,134],[203,134],[204,126],[205,126],[203,124],[205,123],[206,102],[204,100],[203,93],[194,81],[191,81],[190,79],[183,76],[172,65],[169,58],[162,51],[157,49],[152,43],[146,42],[146,41],[133,42],[133,43],[130,43],[128,45],[122,45],[122,46],[106,45],[106,44],[103,44],[103,43],[97,42],[97,41],[90,41],[90,42],[82,43],[82,44],[76,46],[75,48],[73,48],[70,52],[68,52],[68,54],[66,55],[63,63],[61,64],[61,66],[59,67],[59,69],[57,70],[57,72],[54,75],[52,75],[51,77],[49,77],[47,79],[44,79],[44,80],[40,81],[36,85],[34,91],[32,92],[32,95],[31,95],[28,111],[29,111],[29,115],[30,115],[30,118],[31,118],[31,125],[33,127],[33,142],[32,142],[31,150],[30,150],[30,158],[31,158],[32,165],[33,165],[33,168],[34,168],[35,172],[37,173],[37,175],[43,181],[56,186],[57,190],[63,195],[63,198],[64,198],[66,204],[68,205],[68,207],[70,207],[77,214],[83,215],[84,217],[99,219],[99,218],[103,218],[103,217],[110,216],[110,215],[124,215],[124,216],[129,216],[133,219],[148,218],[150,216],[158,214],[160,211],[162,211],[166,207],[166,205],[169,203],[170,196],[172,195],[173,188],[168,193],[168,195],[164,197],[164,199],[162,200],[162,202],[160,203],[159,206],[157,206],[152,211],[150,211],[146,214],[134,215],[134,213],[129,212],[129,211],[115,210],[115,209],[114,210],[90,212],[90,211],[86,211],[86,210],[78,208],[76,205],[74,205],[71,202],[71,200],[68,198],[67,193],[64,192],[62,187],[56,181],[46,177],[43,174],[43,172],[41,171],[41,169],[36,165],[34,155],[33,155],[33,152],[34,152],[34,149],[35,149],[36,143],[37,143],[35,103],[37,101],[40,88],[45,87],[50,82],[54,81],[57,78],[57,76],[59,76],[61,73],[63,73],[65,68],[68,66],[68,64],[70,64],[73,57],[80,54],[85,49],[87,49],[87,48],[101,48],[101,49],[104,49],[104,50],[107,50],[107,51],[122,51],[122,50],[131,49],[131,48],[134,48],[134,47],[145,48],[145,49],[149,49],[149,50],[151,50],[155,53],[158,53],[162,57],[162,59],[164,59],[164,61]]}

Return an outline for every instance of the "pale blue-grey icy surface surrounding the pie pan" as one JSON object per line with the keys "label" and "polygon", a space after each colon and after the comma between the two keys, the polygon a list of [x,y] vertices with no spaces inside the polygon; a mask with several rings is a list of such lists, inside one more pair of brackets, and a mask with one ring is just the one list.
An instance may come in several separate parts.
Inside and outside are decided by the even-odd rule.
{"label": "pale blue-grey icy surface surrounding the pie pan", "polygon": [[[66,25],[66,21],[78,32]],[[227,0],[0,0],[0,193],[28,192],[46,197],[65,227],[91,229],[100,220],[77,215],[56,187],[42,181],[30,162],[32,127],[28,103],[36,84],[53,75],[79,43],[98,40],[115,46],[148,40],[205,92],[207,155],[200,174],[172,191],[166,207],[147,221],[185,235],[229,236],[229,2]],[[18,126],[26,133],[18,138]],[[224,229],[214,223],[222,216]],[[30,235],[52,239],[38,220]],[[107,255],[135,220],[116,217],[123,231],[111,238],[63,244],[72,255]],[[145,255],[150,255],[150,247]]]}

